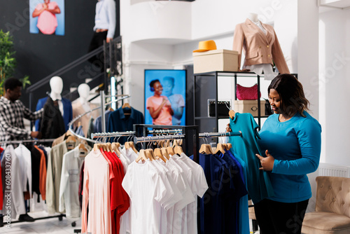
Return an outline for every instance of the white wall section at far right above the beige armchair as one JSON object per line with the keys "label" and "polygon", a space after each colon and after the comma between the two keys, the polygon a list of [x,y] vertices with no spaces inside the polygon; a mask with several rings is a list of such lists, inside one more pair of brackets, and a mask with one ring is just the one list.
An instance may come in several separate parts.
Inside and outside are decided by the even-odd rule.
{"label": "white wall section at far right above the beige armchair", "polygon": [[350,166],[350,10],[320,14],[321,162]]}

